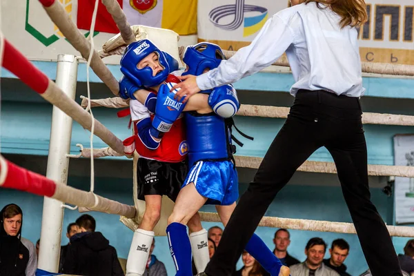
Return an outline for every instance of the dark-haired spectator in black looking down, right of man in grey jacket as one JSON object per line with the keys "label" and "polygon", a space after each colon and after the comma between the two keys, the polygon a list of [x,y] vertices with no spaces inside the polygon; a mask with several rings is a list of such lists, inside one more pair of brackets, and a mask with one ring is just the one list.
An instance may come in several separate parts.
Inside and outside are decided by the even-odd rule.
{"label": "dark-haired spectator in black looking down, right of man in grey jacket", "polygon": [[344,265],[346,257],[349,253],[349,244],[344,239],[335,239],[329,249],[330,259],[324,259],[324,264],[335,270],[341,276],[351,276],[346,273],[346,265]]}

